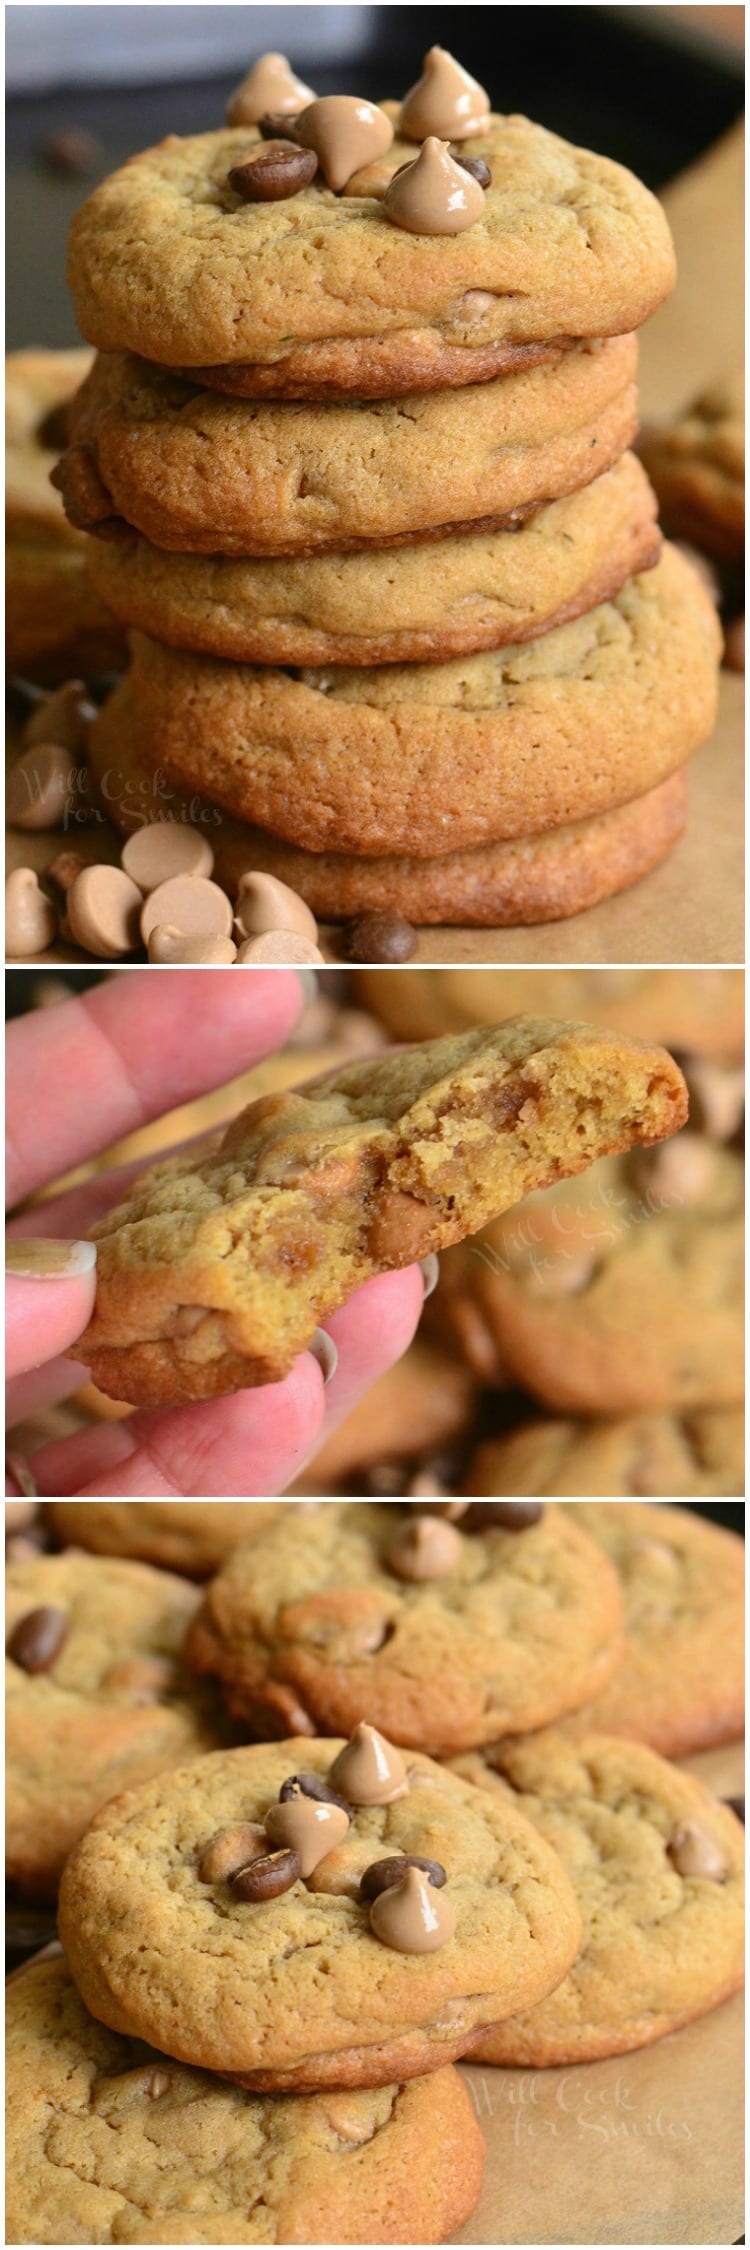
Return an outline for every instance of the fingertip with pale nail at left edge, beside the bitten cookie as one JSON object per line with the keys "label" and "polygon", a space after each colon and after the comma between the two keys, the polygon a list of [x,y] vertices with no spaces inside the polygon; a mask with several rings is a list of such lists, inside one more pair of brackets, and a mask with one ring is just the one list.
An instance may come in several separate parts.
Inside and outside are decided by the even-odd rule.
{"label": "fingertip with pale nail at left edge, beside the bitten cookie", "polygon": [[14,1235],[5,1251],[7,1372],[23,1375],[65,1352],[95,1310],[97,1244]]}

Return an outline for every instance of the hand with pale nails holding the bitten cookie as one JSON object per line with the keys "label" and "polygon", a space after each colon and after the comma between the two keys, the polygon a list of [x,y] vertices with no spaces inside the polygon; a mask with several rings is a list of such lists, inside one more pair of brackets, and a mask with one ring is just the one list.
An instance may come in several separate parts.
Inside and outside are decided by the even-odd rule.
{"label": "hand with pale nails holding the bitten cookie", "polygon": [[[81,997],[20,1017],[9,1026],[7,1055],[11,1204],[146,1118],[270,1055],[302,1004],[293,970],[252,968],[230,979],[216,970],[149,968],[122,970]],[[95,1249],[79,1238],[119,1199],[133,1170],[101,1172],[11,1222],[11,1256],[27,1262],[25,1240],[45,1242],[32,1253],[34,1278],[7,1280],[9,1426],[86,1382],[83,1366],[59,1357],[83,1334],[95,1305]],[[363,1390],[401,1357],[421,1303],[419,1267],[381,1274],[327,1321],[338,1350],[329,1384],[318,1359],[302,1352],[282,1384],[92,1424],[34,1454],[38,1492],[54,1498],[284,1492]]]}

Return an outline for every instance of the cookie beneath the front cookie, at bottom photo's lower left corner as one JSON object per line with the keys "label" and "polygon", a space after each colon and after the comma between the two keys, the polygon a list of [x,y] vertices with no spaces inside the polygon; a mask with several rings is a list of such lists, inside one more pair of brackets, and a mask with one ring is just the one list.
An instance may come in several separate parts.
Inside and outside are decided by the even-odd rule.
{"label": "cookie beneath the front cookie, at bottom photo's lower left corner", "polygon": [[56,1955],[7,1991],[7,2156],[11,2243],[432,2243],[484,2142],[457,2070],[252,2099],[95,2023]]}

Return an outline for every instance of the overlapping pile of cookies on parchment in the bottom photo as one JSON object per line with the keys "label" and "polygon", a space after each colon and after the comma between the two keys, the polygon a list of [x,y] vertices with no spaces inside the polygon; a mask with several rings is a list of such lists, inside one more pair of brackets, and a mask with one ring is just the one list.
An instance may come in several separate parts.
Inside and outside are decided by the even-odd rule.
{"label": "overlapping pile of cookies on parchment in the bottom photo", "polygon": [[[441,2241],[482,2185],[455,2061],[595,2063],[741,1984],[741,1820],[669,1762],[741,1730],[741,1541],[673,1508],[209,1514],[54,1503],[95,1552],[11,1564],[25,1834],[65,1708],[81,1760],[131,1696],[131,1786],[77,1807],[65,1951],[11,1980],[9,2241]],[[245,1742],[137,1778],[135,1672],[151,1742],[189,1674]]]}

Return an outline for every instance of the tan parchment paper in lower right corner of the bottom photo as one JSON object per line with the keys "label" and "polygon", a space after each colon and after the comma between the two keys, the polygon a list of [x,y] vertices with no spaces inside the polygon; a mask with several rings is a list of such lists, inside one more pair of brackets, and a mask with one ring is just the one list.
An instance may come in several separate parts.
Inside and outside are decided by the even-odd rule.
{"label": "tan parchment paper in lower right corner of the bottom photo", "polygon": [[[743,1789],[743,1748],[685,1760]],[[570,2070],[462,2063],[486,2140],[455,2243],[734,2243],[743,2232],[743,2000]]]}

